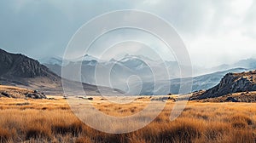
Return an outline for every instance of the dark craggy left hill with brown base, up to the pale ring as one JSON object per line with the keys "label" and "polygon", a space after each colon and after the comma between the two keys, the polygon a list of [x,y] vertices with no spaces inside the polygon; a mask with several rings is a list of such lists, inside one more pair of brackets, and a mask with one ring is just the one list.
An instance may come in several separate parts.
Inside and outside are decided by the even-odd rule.
{"label": "dark craggy left hill with brown base, up to the pale ring", "polygon": [[3,85],[46,92],[56,89],[56,93],[61,93],[61,77],[26,55],[11,54],[0,49],[0,67],[0,83]]}

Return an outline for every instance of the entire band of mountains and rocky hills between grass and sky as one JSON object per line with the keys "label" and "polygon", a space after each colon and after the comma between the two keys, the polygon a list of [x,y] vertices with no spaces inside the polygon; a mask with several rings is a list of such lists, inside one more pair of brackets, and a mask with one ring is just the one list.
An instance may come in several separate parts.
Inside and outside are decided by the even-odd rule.
{"label": "entire band of mountains and rocky hills between grass and sky", "polygon": [[[104,61],[86,54],[83,58],[72,61],[50,58],[44,59],[44,62],[48,63],[44,63],[44,66],[38,60],[33,60],[26,55],[11,54],[0,49],[0,83],[26,89],[40,89],[45,94],[63,94],[64,81],[73,94],[83,94],[76,93],[81,83],[75,80],[73,72],[65,75],[64,78],[61,77],[62,66],[71,70],[73,67],[81,66],[82,82],[84,82],[82,86],[86,94],[100,94],[99,89],[103,89],[108,94],[121,94],[124,93],[123,90],[126,94],[179,94],[181,80],[185,81],[184,84],[193,81],[192,92],[206,90],[206,92],[200,92],[201,94],[198,94],[200,96],[194,96],[195,99],[215,98],[225,94],[256,90],[256,71],[247,72],[256,69],[254,59],[240,60],[232,65],[212,68],[214,70],[231,68],[229,70],[183,79],[178,77],[177,62],[160,62],[142,55],[126,54],[120,60]],[[172,71],[174,78],[166,79],[162,76],[165,73],[164,68],[168,72]],[[152,69],[157,71],[153,73]],[[136,76],[132,77],[134,75]],[[104,77],[113,82],[112,88],[107,87],[109,81],[102,80]],[[152,77],[157,80],[152,80]],[[94,83],[100,84],[96,86]]]}

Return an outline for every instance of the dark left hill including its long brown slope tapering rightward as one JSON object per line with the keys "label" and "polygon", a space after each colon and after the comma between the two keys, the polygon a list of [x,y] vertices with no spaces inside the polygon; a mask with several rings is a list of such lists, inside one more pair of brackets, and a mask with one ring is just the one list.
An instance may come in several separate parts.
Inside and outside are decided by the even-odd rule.
{"label": "dark left hill including its long brown slope tapering rightward", "polygon": [[[64,79],[70,89],[75,92],[79,82]],[[0,84],[11,85],[26,89],[38,89],[45,94],[63,94],[61,77],[51,72],[48,67],[41,65],[23,54],[11,54],[0,49]],[[82,83],[86,94],[99,94],[95,85]],[[102,87],[109,93],[121,93],[118,89]],[[77,93],[80,94],[80,93]]]}

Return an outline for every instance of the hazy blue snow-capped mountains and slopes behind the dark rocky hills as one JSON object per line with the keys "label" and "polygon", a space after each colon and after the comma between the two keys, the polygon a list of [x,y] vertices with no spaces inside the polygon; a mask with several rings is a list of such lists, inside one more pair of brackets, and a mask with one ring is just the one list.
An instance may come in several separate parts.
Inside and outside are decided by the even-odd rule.
{"label": "hazy blue snow-capped mountains and slopes behind the dark rocky hills", "polygon": [[[77,79],[78,81],[102,86],[111,85],[112,88],[121,89],[127,94],[178,94],[181,84],[180,68],[177,61],[153,60],[143,55],[126,54],[119,60],[111,59],[107,61],[86,54],[76,60],[49,58],[40,61],[60,76],[62,66],[67,69],[80,66],[81,79]],[[255,63],[255,59],[247,59],[240,60],[232,65],[221,65],[212,68],[194,66],[195,77],[192,78],[192,91],[212,88],[218,84],[226,73],[256,69]],[[70,75],[66,75],[66,78],[74,80],[73,74],[73,72],[70,72]],[[189,80],[186,77],[184,79],[185,81]],[[155,84],[158,86],[155,87]]]}

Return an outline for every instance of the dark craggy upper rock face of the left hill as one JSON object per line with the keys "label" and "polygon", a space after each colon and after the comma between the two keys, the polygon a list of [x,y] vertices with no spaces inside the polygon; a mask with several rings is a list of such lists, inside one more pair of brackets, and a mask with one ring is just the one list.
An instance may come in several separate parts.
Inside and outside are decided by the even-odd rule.
{"label": "dark craggy upper rock face of the left hill", "polygon": [[22,54],[10,54],[0,49],[0,77],[51,77],[55,74],[37,60]]}

